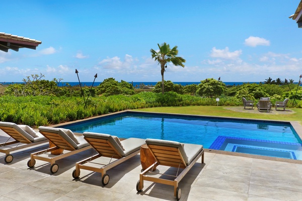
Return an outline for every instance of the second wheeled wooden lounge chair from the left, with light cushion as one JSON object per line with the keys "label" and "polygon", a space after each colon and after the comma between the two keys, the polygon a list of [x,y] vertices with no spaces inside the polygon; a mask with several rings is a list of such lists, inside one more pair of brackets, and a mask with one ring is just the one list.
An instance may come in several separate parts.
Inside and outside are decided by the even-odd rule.
{"label": "second wheeled wooden lounge chair from the left, with light cushion", "polygon": [[[30,160],[27,162],[28,167],[34,167],[36,164],[35,159],[50,162],[50,172],[55,173],[58,171],[59,166],[55,163],[56,160],[77,154],[79,152],[92,148],[89,143],[84,140],[84,136],[75,136],[72,131],[61,128],[51,128],[40,126],[39,131],[48,140],[51,148],[38,151],[30,154]],[[52,155],[51,151],[62,149],[60,155]]]}

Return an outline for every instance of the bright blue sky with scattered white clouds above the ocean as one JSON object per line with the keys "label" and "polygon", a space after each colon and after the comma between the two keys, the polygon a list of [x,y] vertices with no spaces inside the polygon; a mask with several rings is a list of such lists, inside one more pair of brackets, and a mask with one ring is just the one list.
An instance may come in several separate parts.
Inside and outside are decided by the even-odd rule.
{"label": "bright blue sky with scattered white clouds above the ocean", "polygon": [[63,82],[161,81],[150,49],[178,46],[185,67],[165,80],[298,81],[302,29],[288,17],[299,0],[5,1],[0,32],[42,41],[36,50],[0,51],[0,82],[31,74]]}

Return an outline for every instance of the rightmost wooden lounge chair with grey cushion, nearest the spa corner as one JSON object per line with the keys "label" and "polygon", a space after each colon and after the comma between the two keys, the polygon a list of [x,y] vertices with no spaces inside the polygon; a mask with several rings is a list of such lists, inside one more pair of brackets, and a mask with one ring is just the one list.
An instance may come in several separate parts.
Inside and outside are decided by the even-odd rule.
{"label": "rightmost wooden lounge chair with grey cushion, nearest the spa corner", "polygon": [[[156,162],[139,174],[139,180],[136,184],[136,190],[139,192],[143,188],[143,181],[153,181],[157,183],[174,186],[174,196],[177,200],[181,197],[181,189],[178,183],[185,174],[193,167],[196,161],[201,157],[201,163],[204,160],[204,149],[202,145],[181,144],[175,141],[146,139],[146,144],[156,159]],[[174,177],[174,180],[148,176],[156,165],[165,165],[169,167],[183,168],[183,171]],[[178,174],[178,171],[177,171]],[[165,174],[162,174],[165,175]],[[169,175],[173,176],[173,175]]]}

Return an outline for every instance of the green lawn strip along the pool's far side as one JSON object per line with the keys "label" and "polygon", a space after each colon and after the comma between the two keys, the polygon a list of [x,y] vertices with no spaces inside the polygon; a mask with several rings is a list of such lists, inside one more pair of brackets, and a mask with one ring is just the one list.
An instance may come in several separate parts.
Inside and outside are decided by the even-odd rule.
{"label": "green lawn strip along the pool's far side", "polygon": [[238,111],[227,110],[225,106],[185,106],[185,107],[160,107],[160,108],[145,108],[137,109],[134,111],[143,112],[157,112],[157,113],[173,113],[173,114],[190,114],[190,115],[202,115],[202,116],[219,116],[219,117],[234,117],[234,118],[246,118],[246,119],[262,119],[262,120],[279,120],[279,121],[298,121],[302,125],[302,109],[290,108],[286,110],[293,111],[292,114],[265,114],[264,112],[258,112],[257,108],[253,112],[240,112],[243,107]]}

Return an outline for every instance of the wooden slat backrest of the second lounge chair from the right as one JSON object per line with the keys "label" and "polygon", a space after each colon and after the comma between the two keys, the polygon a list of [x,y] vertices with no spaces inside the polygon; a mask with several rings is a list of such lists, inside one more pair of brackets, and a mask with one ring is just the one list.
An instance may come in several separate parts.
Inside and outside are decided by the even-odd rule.
{"label": "wooden slat backrest of the second lounge chair from the right", "polygon": [[84,137],[84,139],[102,156],[122,158],[123,156],[118,153],[114,146],[109,142],[109,140]]}

